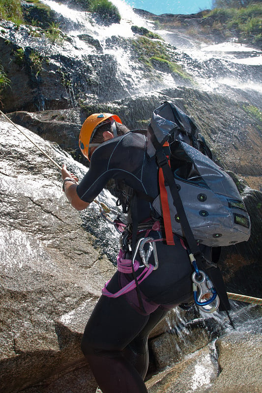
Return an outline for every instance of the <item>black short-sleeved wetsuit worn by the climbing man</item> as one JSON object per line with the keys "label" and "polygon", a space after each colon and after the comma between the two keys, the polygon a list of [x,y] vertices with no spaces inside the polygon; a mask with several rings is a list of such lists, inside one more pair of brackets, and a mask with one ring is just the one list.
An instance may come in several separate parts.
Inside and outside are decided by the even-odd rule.
{"label": "black short-sleeved wetsuit worn by the climbing man", "polygon": [[[92,155],[78,196],[91,202],[111,178],[138,193],[159,194],[158,168],[146,155],[143,134],[131,132],[104,142]],[[151,203],[139,196],[137,211],[139,223],[154,214]],[[149,236],[165,237],[153,230]],[[82,350],[103,393],[147,392],[143,381],[148,367],[147,337],[169,308],[192,300],[192,268],[183,242],[175,236],[175,246],[160,241],[156,247],[159,268],[140,284],[145,308],[140,307],[136,289],[116,299],[102,295],[87,322]],[[115,293],[131,280],[132,274],[116,272],[107,288]]]}

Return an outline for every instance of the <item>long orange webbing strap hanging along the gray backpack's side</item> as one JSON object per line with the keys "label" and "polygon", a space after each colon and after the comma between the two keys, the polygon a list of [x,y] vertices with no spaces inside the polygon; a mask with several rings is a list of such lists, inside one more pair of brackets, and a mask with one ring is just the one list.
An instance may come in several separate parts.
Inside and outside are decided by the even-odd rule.
{"label": "long orange webbing strap hanging along the gray backpack's side", "polygon": [[[165,142],[163,146],[169,146],[168,142]],[[170,161],[168,162],[170,166]],[[175,246],[174,235],[172,232],[170,210],[168,204],[168,193],[165,186],[165,179],[163,169],[159,168],[159,188],[160,188],[160,199],[162,205],[163,220],[166,233],[166,242],[169,246]]]}

